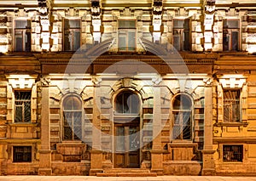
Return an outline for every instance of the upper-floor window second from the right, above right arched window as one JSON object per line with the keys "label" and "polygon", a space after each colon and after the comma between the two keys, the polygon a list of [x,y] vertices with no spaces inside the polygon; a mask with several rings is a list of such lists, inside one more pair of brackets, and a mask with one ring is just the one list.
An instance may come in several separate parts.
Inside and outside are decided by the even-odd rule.
{"label": "upper-floor window second from the right, above right arched window", "polygon": [[173,20],[173,46],[177,51],[190,50],[190,20]]}

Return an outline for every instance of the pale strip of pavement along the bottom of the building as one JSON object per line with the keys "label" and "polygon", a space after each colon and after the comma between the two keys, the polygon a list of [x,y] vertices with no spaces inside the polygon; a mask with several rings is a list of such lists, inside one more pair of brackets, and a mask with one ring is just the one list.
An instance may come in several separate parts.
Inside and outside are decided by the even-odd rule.
{"label": "pale strip of pavement along the bottom of the building", "polygon": [[144,178],[91,176],[0,176],[1,181],[256,181],[256,177],[158,176]]}

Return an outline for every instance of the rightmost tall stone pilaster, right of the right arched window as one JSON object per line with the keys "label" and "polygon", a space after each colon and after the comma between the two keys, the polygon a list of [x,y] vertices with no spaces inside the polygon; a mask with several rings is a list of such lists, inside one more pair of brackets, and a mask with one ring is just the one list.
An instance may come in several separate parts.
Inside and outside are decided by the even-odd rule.
{"label": "rightmost tall stone pilaster, right of the right arched window", "polygon": [[202,175],[214,175],[215,165],[212,150],[212,85],[205,87],[205,127],[204,127],[204,150],[202,150]]}

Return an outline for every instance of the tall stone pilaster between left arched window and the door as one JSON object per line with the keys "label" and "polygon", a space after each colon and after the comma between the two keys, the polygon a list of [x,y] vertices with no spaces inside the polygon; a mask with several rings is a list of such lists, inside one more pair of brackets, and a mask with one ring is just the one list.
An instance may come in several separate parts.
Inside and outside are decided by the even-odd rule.
{"label": "tall stone pilaster between left arched window and the door", "polygon": [[90,176],[102,173],[102,125],[100,112],[100,97],[96,96],[94,88],[93,118],[92,118],[92,149],[90,150]]}

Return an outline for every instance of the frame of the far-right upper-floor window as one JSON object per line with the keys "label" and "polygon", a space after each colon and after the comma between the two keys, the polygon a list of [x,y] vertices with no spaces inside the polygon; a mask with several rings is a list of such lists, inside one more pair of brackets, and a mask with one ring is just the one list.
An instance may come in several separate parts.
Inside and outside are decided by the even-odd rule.
{"label": "frame of the far-right upper-floor window", "polygon": [[[237,20],[237,22],[238,22],[238,26],[237,26],[237,28],[235,28],[235,27],[225,27],[225,25],[224,25],[224,21],[231,21],[231,20]],[[227,23],[228,24],[228,23]],[[226,19],[224,19],[223,20],[223,51],[225,51],[225,52],[229,52],[229,51],[240,51],[240,49],[241,49],[241,28],[240,28],[240,26],[241,26],[241,22],[240,22],[240,19],[235,19],[235,18],[226,18]],[[227,31],[228,33],[225,33],[225,31]],[[237,32],[237,34],[238,34],[238,39],[237,39],[237,49],[233,49],[232,48],[232,42],[233,42],[233,37],[232,37],[232,32]],[[228,48],[225,48],[225,45],[224,45],[224,35],[228,35],[227,37],[229,37],[230,38],[230,40],[229,40],[229,42],[228,42]]]}

